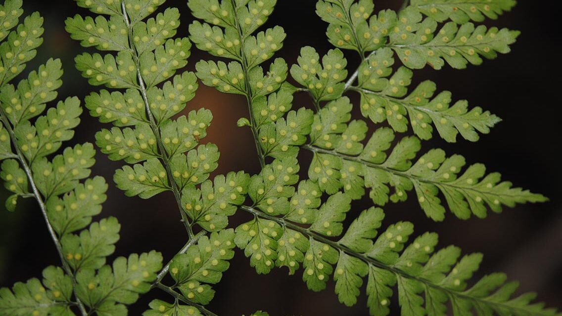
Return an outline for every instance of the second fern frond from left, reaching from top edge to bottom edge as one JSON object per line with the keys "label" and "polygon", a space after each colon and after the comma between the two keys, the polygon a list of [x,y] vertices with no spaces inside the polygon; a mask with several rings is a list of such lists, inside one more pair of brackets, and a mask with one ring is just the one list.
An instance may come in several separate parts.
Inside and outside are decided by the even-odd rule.
{"label": "second fern frond from left, reaching from top edge to bottom edge", "polygon": [[[152,301],[144,315],[214,315],[203,305],[214,296],[211,285],[220,281],[234,255],[234,232],[224,230],[226,217],[243,203],[250,177],[230,172],[207,180],[219,159],[216,145],[199,144],[211,124],[209,110],[172,119],[194,97],[197,77],[187,71],[176,75],[191,47],[187,38],[174,38],[179,11],[167,8],[146,20],[163,2],[78,1],[103,15],[69,18],[66,29],[85,47],[109,52],[81,54],[76,67],[90,84],[118,89],[85,100],[91,115],[115,125],[96,134],[102,152],[133,165],[117,170],[117,186],[143,199],[171,191],[187,230],[187,244],[152,284],[173,296],[174,303]],[[212,232],[210,237],[203,236],[205,231],[194,235],[196,225]],[[171,287],[161,283],[168,272]]]}

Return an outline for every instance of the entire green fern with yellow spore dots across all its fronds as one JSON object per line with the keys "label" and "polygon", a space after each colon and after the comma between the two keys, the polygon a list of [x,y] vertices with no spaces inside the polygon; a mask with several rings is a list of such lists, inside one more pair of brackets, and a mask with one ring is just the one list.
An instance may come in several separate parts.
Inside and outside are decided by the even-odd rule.
{"label": "entire green fern with yellow spore dots across all its fronds", "polygon": [[[447,156],[441,149],[418,154],[422,140],[434,134],[447,142],[456,141],[459,134],[477,141],[499,121],[482,108],[469,108],[466,101],[452,103],[451,94],[436,93],[431,81],[413,89],[409,86],[413,69],[425,65],[436,70],[446,65],[465,68],[469,63],[478,65],[483,58],[509,52],[518,32],[474,26],[472,21],[495,19],[509,11],[514,1],[413,0],[406,1],[399,12],[383,10],[374,15],[371,0],[320,0],[316,13],[328,22],[327,36],[335,48],[320,58],[314,48],[303,47],[297,63],[290,68],[284,59],[273,59],[283,47],[283,28],[258,31],[274,11],[275,0],[189,0],[188,8],[196,18],[189,24],[189,39],[175,38],[180,27],[179,10],[160,8],[164,0],[76,2],[94,16],[71,17],[66,20],[66,30],[84,47],[102,52],[83,53],[75,59],[76,68],[90,84],[103,86],[85,99],[85,106],[102,123],[114,125],[97,132],[96,144],[108,158],[124,161],[114,181],[126,195],[142,199],[166,192],[173,195],[187,241],[164,267],[161,256],[154,252],[144,254],[150,260],[132,255],[128,265],[124,258],[116,259],[113,270],[105,265],[105,257],[112,253],[118,239],[115,219],[93,223],[79,236],[72,234],[87,226],[91,216],[101,210],[99,203],[105,199],[106,189],[101,178],[92,180],[99,181],[97,186],[91,182],[93,188],[99,187],[92,199],[97,196],[100,202],[79,208],[80,212],[88,210],[83,216],[67,219],[69,216],[50,214],[57,214],[58,208],[67,214],[75,209],[73,205],[78,207],[82,196],[89,199],[90,195],[83,192],[89,188],[88,180],[84,186],[76,186],[75,190],[82,191],[71,190],[89,175],[85,168],[93,163],[89,162],[92,154],[84,163],[87,167],[73,177],[58,180],[55,175],[59,168],[64,173],[70,167],[67,159],[74,158],[70,156],[76,150],[84,154],[93,153],[93,149],[91,145],[75,152],[67,149],[61,158],[47,162],[45,156],[57,150],[60,141],[71,138],[70,129],[78,124],[80,108],[77,99],[69,99],[55,111],[48,111],[46,118],[37,118],[32,126],[29,119],[39,115],[34,113],[41,112],[47,101],[24,106],[21,95],[25,98],[31,80],[42,76],[40,69],[39,75],[31,73],[28,83],[17,89],[11,85],[2,88],[6,130],[2,135],[6,136],[2,136],[5,140],[0,138],[4,141],[0,148],[5,152],[0,158],[7,159],[2,165],[2,178],[8,189],[14,188],[11,191],[15,195],[8,203],[15,205],[18,196],[34,196],[42,205],[64,269],[46,270],[43,284],[49,290],[42,290],[37,280],[28,285],[18,283],[13,292],[2,290],[0,312],[24,315],[37,311],[35,314],[42,315],[63,314],[59,311],[64,310],[71,314],[71,309],[78,308],[83,315],[124,315],[123,304],[134,303],[138,294],[158,288],[170,299],[153,300],[143,315],[215,315],[206,308],[215,294],[212,286],[229,268],[234,248],[239,248],[260,274],[275,267],[287,267],[289,274],[294,274],[302,266],[302,280],[312,291],[324,290],[332,277],[339,301],[347,306],[356,304],[366,281],[364,291],[371,315],[389,314],[393,300],[403,315],[557,314],[555,309],[533,303],[534,294],[513,297],[517,284],[506,282],[505,274],[470,280],[481,263],[481,254],[461,257],[461,250],[455,246],[438,250],[436,233],[426,232],[409,241],[414,233],[410,222],[382,228],[384,212],[380,207],[389,201],[406,200],[411,191],[415,191],[425,214],[436,222],[445,219],[447,209],[461,219],[473,214],[484,218],[488,209],[501,212],[502,207],[516,203],[546,201],[540,194],[501,181],[498,173],[486,174],[482,164],[465,167],[460,155]],[[8,0],[4,3],[8,9],[0,11],[19,16],[20,7],[21,2]],[[13,19],[17,17],[8,21],[8,26],[13,25]],[[31,29],[12,31],[14,35],[8,36],[7,42],[11,44],[0,47],[2,65],[6,70],[15,69],[14,74],[21,72],[20,64],[7,63],[4,56],[16,62],[25,60],[25,56],[15,58],[19,51],[11,55],[7,51],[15,51],[22,44],[17,39],[22,31],[29,34]],[[15,45],[16,40],[19,45]],[[196,74],[184,71],[191,43],[219,59],[197,62]],[[359,53],[357,69],[348,71],[341,49]],[[287,81],[289,74],[292,83]],[[238,126],[252,132],[261,166],[258,174],[238,171],[209,179],[217,168],[219,150],[201,141],[212,114],[207,109],[183,114],[198,88],[197,79],[246,99],[248,117],[238,120]],[[4,85],[3,80],[0,83]],[[39,83],[37,89],[56,85]],[[38,93],[41,97],[42,92]],[[52,89],[45,92],[46,98],[54,99],[53,93]],[[310,108],[293,108],[296,93],[310,95]],[[355,106],[374,123],[374,129],[369,129],[364,120],[352,120],[354,104],[348,95],[353,93],[360,98]],[[70,111],[71,103],[74,111]],[[29,114],[14,120],[11,113],[17,111]],[[68,119],[68,125],[63,123],[66,127],[60,136],[45,139],[58,131],[50,130],[49,122],[64,122],[57,113],[64,116],[69,112],[74,116]],[[413,135],[401,136],[409,126]],[[300,159],[301,149],[312,153],[311,162]],[[4,164],[11,177],[4,172]],[[305,178],[300,177],[301,164],[308,171]],[[24,171],[18,171],[19,165]],[[19,178],[24,182],[18,182]],[[60,189],[55,186],[48,194],[42,190],[57,181],[64,182]],[[31,193],[22,189],[28,186]],[[373,207],[346,227],[344,221],[352,201],[367,193]],[[51,208],[54,212],[49,211]],[[237,210],[247,214],[249,220],[228,228],[229,217]],[[102,230],[109,222],[115,223],[114,233]],[[59,232],[57,227],[64,228]],[[102,247],[92,247],[96,242]],[[83,250],[94,248],[103,251],[88,253],[87,258]],[[139,265],[144,267],[142,260],[150,268],[138,272]],[[80,262],[89,264],[83,267]],[[64,300],[57,299],[56,289],[49,287],[55,278],[53,269],[56,277],[66,282],[64,291],[58,292],[59,296],[64,293]],[[121,287],[115,289],[116,284]],[[37,299],[37,291],[47,291],[45,301]],[[29,306],[33,306],[33,312]]]}

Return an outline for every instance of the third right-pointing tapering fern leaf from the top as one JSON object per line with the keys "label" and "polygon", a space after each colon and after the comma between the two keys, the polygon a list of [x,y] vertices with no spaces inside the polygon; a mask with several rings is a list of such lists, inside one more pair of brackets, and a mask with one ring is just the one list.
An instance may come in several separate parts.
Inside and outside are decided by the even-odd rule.
{"label": "third right-pointing tapering fern leaf from the top", "polygon": [[409,117],[414,134],[421,139],[431,138],[433,124],[439,136],[449,142],[455,142],[459,133],[464,139],[477,141],[478,132],[488,134],[500,121],[479,107],[469,111],[464,100],[451,105],[448,91],[434,97],[436,85],[432,81],[424,81],[406,95],[412,72],[401,67],[392,74],[392,55],[390,49],[380,49],[359,67],[359,86],[353,89],[361,94],[363,116],[377,123],[386,120],[398,132],[407,130]]}

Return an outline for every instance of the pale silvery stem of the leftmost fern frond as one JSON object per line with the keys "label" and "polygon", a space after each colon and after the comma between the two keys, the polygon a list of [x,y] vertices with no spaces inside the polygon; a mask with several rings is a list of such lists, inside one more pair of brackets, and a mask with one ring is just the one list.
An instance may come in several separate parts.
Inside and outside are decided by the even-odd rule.
{"label": "pale silvery stem of the leftmost fern frond", "polygon": [[39,204],[39,208],[41,209],[41,214],[43,215],[43,218],[47,225],[47,230],[49,231],[49,235],[51,235],[51,239],[55,243],[55,248],[57,249],[58,257],[60,257],[61,259],[62,268],[64,268],[66,274],[68,274],[68,276],[70,276],[72,279],[72,291],[74,292],[74,296],[76,297],[76,305],[80,309],[80,314],[86,316],[87,312],[86,309],[84,308],[84,304],[82,304],[82,302],[76,295],[76,279],[74,277],[74,273],[72,272],[70,265],[65,260],[65,256],[62,253],[61,242],[60,240],[58,240],[57,233],[53,229],[51,222],[49,222],[49,217],[47,215],[47,206],[45,205],[45,202],[43,201],[43,198],[39,193],[39,190],[37,189],[37,185],[35,185],[35,180],[33,179],[33,173],[29,168],[28,162],[26,161],[25,156],[21,153],[19,146],[17,146],[16,135],[13,132],[13,128],[12,125],[10,124],[10,120],[8,120],[6,113],[4,113],[4,108],[2,107],[1,104],[0,104],[0,120],[2,120],[2,122],[4,123],[4,127],[8,131],[8,134],[10,135],[13,148],[15,148],[16,150],[16,159],[20,162],[21,166],[24,168],[25,175],[27,176],[29,185],[31,186],[31,191],[33,191],[33,197],[35,198],[35,200],[37,200],[37,203]]}

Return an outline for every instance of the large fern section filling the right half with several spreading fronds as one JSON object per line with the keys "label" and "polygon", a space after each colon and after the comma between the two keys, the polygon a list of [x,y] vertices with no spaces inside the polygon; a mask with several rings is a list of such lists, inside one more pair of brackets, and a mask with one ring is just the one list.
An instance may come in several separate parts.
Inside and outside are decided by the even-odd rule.
{"label": "large fern section filling the right half with several spreading fronds", "polygon": [[[379,205],[388,199],[405,200],[406,191],[415,189],[420,205],[436,221],[441,221],[445,213],[439,191],[459,218],[468,218],[471,213],[485,217],[484,203],[499,212],[501,204],[545,200],[542,195],[512,189],[509,182],[500,183],[497,173],[484,176],[485,169],[480,164],[459,175],[464,158],[446,158],[442,150],[431,150],[412,163],[420,150],[415,136],[402,139],[388,156],[386,153],[393,145],[394,131],[407,130],[406,116],[410,117],[414,134],[422,139],[432,136],[432,124],[447,141],[455,141],[459,133],[472,141],[478,139],[477,131],[487,133],[498,121],[496,116],[481,108],[469,111],[466,102],[450,106],[448,92],[432,99],[435,87],[429,81],[405,97],[412,75],[406,67],[420,68],[429,63],[441,68],[445,62],[456,68],[468,62],[478,64],[482,62],[479,56],[493,58],[496,52],[509,51],[517,33],[474,28],[472,24],[459,28],[450,22],[434,35],[438,21],[423,20],[415,6],[398,15],[387,10],[371,17],[373,2],[369,0],[319,1],[317,12],[330,23],[330,42],[356,50],[362,63],[345,82],[347,61],[341,51],[334,49],[320,59],[313,48],[305,47],[298,65],[291,68],[293,79],[303,88],[294,89],[282,83],[287,74],[280,59],[271,63],[265,77],[261,66],[257,66],[272,57],[282,45],[279,39],[284,38],[278,26],[252,35],[256,26],[266,21],[274,4],[275,1],[188,2],[193,15],[206,22],[196,21],[190,26],[197,47],[234,59],[228,65],[200,62],[197,76],[219,91],[246,95],[251,120],[241,119],[239,126],[249,125],[257,136],[260,160],[275,158],[251,178],[248,195],[253,205],[241,209],[252,214],[253,219],[235,230],[235,242],[250,257],[252,267],[258,273],[268,273],[274,266],[286,266],[292,274],[302,264],[303,281],[314,291],[323,290],[333,274],[336,292],[346,305],[356,303],[366,277],[372,315],[389,313],[395,285],[404,315],[446,314],[447,302],[455,314],[555,314],[555,310],[531,304],[533,295],[511,299],[516,285],[505,283],[504,274],[491,274],[469,288],[466,281],[482,256],[473,254],[458,260],[460,250],[454,246],[433,254],[437,244],[434,233],[425,233],[408,245],[407,239],[413,233],[411,223],[391,225],[375,239],[384,217],[380,209],[365,210],[345,233],[342,225],[351,200],[361,198],[365,187]],[[444,8],[439,12],[445,14],[445,7],[451,3],[442,4]],[[492,4],[493,12],[507,10],[505,5]],[[492,4],[479,7],[488,12]],[[496,13],[486,15],[495,17]],[[475,20],[482,17],[481,13],[466,16]],[[455,15],[454,19],[460,21],[463,16]],[[371,52],[369,56],[365,56],[367,52]],[[405,65],[396,71],[392,68],[394,54]],[[259,75],[252,76],[253,72]],[[355,80],[359,81],[357,86],[353,85]],[[297,90],[310,93],[316,109],[314,118],[310,110],[303,108],[287,112],[291,108],[290,93]],[[375,130],[366,145],[362,143],[368,132],[366,123],[350,122],[352,104],[342,97],[350,90],[361,94],[364,116],[375,123],[386,120],[391,126]],[[289,96],[284,97],[287,92]],[[283,98],[279,98],[280,94]],[[324,101],[330,102],[322,104]],[[298,146],[314,152],[309,179],[300,182]],[[395,188],[391,196],[389,187]],[[340,192],[342,189],[345,193]]]}

